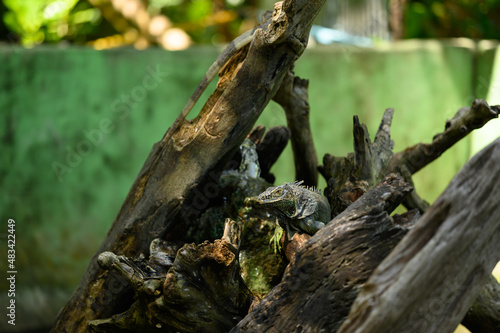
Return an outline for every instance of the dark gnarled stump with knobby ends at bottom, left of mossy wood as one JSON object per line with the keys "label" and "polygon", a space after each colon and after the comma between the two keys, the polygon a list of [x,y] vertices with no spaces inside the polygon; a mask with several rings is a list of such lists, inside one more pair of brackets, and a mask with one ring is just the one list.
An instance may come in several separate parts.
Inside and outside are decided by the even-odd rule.
{"label": "dark gnarled stump with knobby ends at bottom, left of mossy wood", "polygon": [[240,236],[241,225],[227,219],[224,235],[213,243],[185,244],[172,253],[172,244],[155,239],[148,260],[101,253],[99,264],[119,272],[137,300],[121,314],[90,321],[90,327],[106,333],[229,330],[252,300],[240,276]]}

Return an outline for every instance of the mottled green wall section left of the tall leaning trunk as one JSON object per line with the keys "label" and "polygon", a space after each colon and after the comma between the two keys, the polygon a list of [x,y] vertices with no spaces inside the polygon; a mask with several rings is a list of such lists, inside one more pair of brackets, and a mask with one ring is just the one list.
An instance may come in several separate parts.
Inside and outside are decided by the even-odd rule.
{"label": "mottled green wall section left of the tall leaning trunk", "polygon": [[73,287],[216,50],[9,51],[0,212],[17,222],[18,282]]}

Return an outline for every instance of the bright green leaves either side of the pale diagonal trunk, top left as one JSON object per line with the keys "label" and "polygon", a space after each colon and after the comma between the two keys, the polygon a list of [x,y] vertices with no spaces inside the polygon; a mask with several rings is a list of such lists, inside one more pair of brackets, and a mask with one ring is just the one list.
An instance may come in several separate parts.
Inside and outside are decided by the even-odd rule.
{"label": "bright green leaves either side of the pale diagonal trunk, top left", "polygon": [[[25,46],[69,41],[84,44],[97,38],[137,28],[109,0],[0,0],[1,40]],[[255,1],[245,0],[138,0],[152,16],[165,15],[195,42],[226,41],[237,36]],[[118,15],[104,15],[105,10]],[[222,15],[221,15],[222,13]],[[108,13],[109,14],[109,13]],[[125,25],[125,27],[124,27]],[[121,29],[117,29],[117,27]]]}

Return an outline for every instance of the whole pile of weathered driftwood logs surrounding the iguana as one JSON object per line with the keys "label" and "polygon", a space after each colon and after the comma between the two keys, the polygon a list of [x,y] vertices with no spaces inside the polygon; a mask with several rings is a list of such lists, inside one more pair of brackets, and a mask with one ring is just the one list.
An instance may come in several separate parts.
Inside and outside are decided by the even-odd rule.
{"label": "whole pile of weathered driftwood logs surrounding the iguana", "polygon": [[[385,111],[372,142],[354,118],[354,152],[319,168],[332,219],[275,254],[274,221],[244,205],[288,140],[296,178],[314,186],[307,81],[294,77],[324,0],[275,5],[221,71],[200,114],[156,143],[53,332],[500,331],[500,140],[429,206],[412,175],[500,107],[475,100],[431,143],[394,153]],[[252,131],[273,99],[288,127]],[[250,176],[245,138],[261,177]],[[408,211],[391,215],[403,204]],[[205,240],[205,241],[204,241]],[[193,243],[195,242],[195,243]],[[257,272],[258,274],[255,274]]]}

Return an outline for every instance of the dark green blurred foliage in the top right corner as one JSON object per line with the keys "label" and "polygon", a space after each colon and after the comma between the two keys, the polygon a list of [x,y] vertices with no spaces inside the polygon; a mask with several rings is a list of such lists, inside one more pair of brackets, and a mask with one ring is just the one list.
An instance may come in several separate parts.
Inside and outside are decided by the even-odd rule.
{"label": "dark green blurred foliage in the top right corner", "polygon": [[405,10],[405,38],[498,39],[499,0],[418,0]]}

